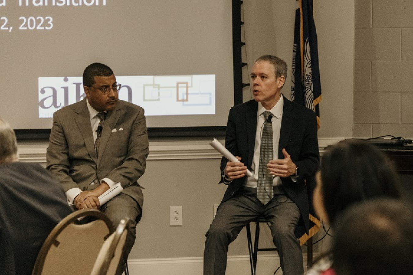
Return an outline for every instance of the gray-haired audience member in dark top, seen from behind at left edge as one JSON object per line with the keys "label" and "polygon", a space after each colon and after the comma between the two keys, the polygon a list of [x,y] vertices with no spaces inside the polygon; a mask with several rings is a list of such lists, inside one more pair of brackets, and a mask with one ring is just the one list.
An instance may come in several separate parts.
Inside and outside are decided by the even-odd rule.
{"label": "gray-haired audience member in dark top, seen from behind at left edge", "polygon": [[18,160],[14,131],[0,118],[0,274],[30,275],[47,235],[71,209],[50,172]]}

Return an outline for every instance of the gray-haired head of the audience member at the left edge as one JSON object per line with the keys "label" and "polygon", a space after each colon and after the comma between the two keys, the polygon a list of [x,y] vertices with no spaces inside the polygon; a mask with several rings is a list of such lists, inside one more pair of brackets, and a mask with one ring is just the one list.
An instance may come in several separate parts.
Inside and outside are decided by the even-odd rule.
{"label": "gray-haired head of the audience member at the left edge", "polygon": [[18,159],[14,130],[7,121],[0,118],[0,164],[17,161]]}

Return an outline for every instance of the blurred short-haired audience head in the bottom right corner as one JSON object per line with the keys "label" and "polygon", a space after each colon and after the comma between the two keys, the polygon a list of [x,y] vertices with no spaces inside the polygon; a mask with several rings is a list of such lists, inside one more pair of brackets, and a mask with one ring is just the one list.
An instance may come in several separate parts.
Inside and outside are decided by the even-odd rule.
{"label": "blurred short-haired audience head in the bottom right corner", "polygon": [[333,269],[337,275],[413,273],[413,208],[394,199],[350,207],[337,220]]}

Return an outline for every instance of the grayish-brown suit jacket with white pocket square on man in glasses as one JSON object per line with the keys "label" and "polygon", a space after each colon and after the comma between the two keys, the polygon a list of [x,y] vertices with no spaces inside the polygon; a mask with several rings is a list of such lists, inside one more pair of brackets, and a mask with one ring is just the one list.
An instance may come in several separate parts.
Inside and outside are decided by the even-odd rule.
{"label": "grayish-brown suit jacket with white pocket square on man in glasses", "polygon": [[[114,131],[116,129],[116,131]],[[123,130],[121,130],[123,129]],[[99,157],[86,98],[56,111],[47,148],[47,169],[62,183],[64,191],[79,187],[85,190],[97,177],[120,182],[123,193],[135,199],[140,207],[143,194],[136,182],[145,172],[149,140],[144,110],[129,102],[118,101],[108,111]]]}

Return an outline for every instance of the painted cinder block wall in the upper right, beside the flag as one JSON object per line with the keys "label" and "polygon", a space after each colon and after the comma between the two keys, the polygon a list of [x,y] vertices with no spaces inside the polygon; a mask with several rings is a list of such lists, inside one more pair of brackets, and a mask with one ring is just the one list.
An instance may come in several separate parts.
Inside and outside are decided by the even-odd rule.
{"label": "painted cinder block wall in the upper right, beside the flag", "polygon": [[413,137],[413,1],[355,0],[354,137]]}

